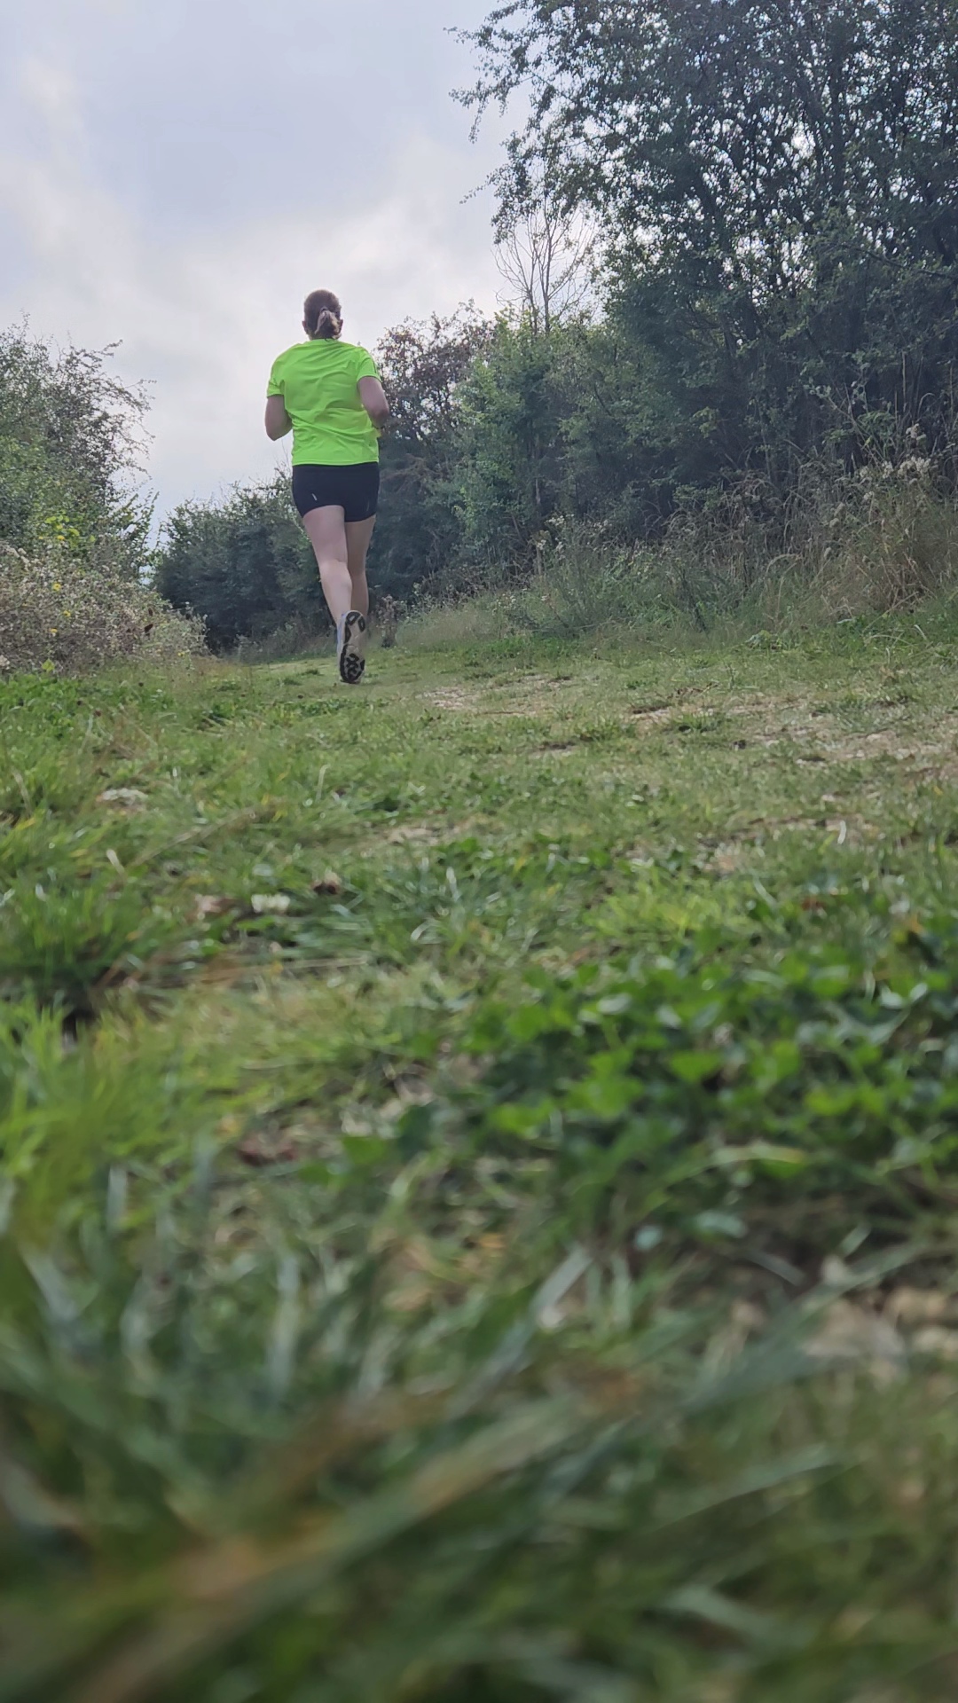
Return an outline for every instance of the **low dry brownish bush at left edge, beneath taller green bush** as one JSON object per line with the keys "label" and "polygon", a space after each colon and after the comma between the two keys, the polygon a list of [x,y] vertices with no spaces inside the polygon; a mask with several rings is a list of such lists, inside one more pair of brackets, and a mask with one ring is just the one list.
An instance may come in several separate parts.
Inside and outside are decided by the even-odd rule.
{"label": "low dry brownish bush at left edge, beneath taller green bush", "polygon": [[121,657],[170,662],[203,651],[203,623],[138,581],[0,543],[0,669],[84,673]]}

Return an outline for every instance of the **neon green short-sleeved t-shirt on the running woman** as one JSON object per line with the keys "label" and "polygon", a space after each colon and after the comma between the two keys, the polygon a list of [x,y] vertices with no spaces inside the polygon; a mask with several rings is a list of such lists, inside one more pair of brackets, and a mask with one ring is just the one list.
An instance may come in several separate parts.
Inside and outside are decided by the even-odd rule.
{"label": "neon green short-sleeved t-shirt on the running woman", "polygon": [[310,337],[273,363],[269,397],[283,397],[293,422],[293,467],[378,462],[377,429],[360,402],[360,378],[378,378],[355,342]]}

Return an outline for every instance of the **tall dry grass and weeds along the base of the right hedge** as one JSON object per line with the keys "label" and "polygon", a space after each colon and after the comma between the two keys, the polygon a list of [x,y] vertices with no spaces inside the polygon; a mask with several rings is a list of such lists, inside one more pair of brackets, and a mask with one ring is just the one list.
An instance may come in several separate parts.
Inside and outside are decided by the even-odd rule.
{"label": "tall dry grass and weeds along the base of the right hedge", "polygon": [[958,588],[958,504],[931,456],[905,444],[835,475],[810,465],[782,506],[762,477],[680,506],[665,538],[634,545],[605,525],[556,518],[532,577],[459,605],[424,605],[406,642],[493,632],[781,632],[888,615]]}

